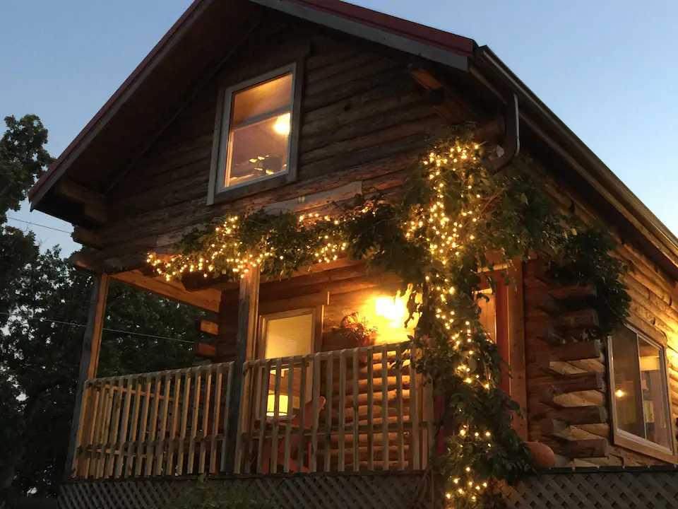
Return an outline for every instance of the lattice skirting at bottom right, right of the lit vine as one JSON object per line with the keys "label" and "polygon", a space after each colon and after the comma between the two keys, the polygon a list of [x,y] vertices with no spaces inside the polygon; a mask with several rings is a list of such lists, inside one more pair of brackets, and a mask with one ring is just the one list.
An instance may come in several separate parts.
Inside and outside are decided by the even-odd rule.
{"label": "lattice skirting at bottom right, right of the lit vine", "polygon": [[678,472],[571,472],[502,486],[509,508],[678,508]]}

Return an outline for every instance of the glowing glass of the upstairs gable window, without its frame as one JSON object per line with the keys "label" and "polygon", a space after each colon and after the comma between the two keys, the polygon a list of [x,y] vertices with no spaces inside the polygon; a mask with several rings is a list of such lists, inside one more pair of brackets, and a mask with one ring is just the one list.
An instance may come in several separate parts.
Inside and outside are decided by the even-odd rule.
{"label": "glowing glass of the upstairs gable window, without its frame", "polygon": [[292,74],[233,95],[225,187],[287,172],[291,112]]}

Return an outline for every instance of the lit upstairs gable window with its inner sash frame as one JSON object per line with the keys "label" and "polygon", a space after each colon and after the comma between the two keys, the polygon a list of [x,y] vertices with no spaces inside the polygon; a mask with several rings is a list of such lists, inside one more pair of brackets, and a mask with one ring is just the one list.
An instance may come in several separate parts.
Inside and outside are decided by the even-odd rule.
{"label": "lit upstairs gable window with its inner sash frame", "polygon": [[294,179],[295,69],[287,66],[225,91],[220,136],[215,136],[214,195],[237,196],[245,193],[230,191]]}

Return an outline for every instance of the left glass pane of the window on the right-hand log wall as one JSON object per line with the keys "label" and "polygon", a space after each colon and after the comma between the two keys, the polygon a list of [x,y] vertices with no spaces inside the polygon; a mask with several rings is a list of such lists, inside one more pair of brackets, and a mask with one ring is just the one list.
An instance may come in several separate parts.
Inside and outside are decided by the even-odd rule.
{"label": "left glass pane of the window on the right-hand log wall", "polygon": [[638,366],[638,337],[623,327],[612,339],[614,398],[617,428],[646,438],[643,419],[643,395]]}

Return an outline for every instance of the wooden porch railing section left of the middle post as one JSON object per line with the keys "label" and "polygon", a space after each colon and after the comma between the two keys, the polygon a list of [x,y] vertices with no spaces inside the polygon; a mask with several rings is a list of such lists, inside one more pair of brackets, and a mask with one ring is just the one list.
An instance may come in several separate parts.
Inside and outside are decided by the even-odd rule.
{"label": "wooden porch railing section left of the middle post", "polygon": [[85,382],[73,477],[223,470],[233,363]]}

